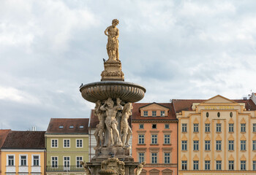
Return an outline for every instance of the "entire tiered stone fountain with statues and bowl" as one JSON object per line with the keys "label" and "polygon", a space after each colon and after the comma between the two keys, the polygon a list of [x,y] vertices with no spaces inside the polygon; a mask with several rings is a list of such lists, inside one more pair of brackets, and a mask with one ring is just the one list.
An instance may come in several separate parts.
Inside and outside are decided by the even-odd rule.
{"label": "entire tiered stone fountain with statues and bowl", "polygon": [[108,36],[108,61],[104,60],[104,71],[100,82],[80,87],[84,99],[95,103],[94,114],[99,124],[94,133],[97,140],[95,156],[83,163],[86,174],[92,175],[139,175],[145,163],[136,163],[129,155],[128,144],[132,134],[128,119],[132,114],[132,103],[140,101],[146,89],[132,82],[124,82],[118,52],[119,31],[114,19],[106,28]]}

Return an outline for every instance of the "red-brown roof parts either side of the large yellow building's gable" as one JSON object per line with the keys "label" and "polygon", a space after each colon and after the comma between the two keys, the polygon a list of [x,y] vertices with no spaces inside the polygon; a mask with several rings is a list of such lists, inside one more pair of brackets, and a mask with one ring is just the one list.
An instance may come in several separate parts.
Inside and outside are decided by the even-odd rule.
{"label": "red-brown roof parts either side of the large yellow building's gable", "polygon": [[[192,104],[193,103],[202,103],[206,100],[191,100],[191,99],[173,99],[173,106],[175,112],[181,111],[192,111]],[[244,103],[246,110],[256,110],[256,104],[253,103],[251,99],[249,100],[232,100],[236,101],[236,103]]]}

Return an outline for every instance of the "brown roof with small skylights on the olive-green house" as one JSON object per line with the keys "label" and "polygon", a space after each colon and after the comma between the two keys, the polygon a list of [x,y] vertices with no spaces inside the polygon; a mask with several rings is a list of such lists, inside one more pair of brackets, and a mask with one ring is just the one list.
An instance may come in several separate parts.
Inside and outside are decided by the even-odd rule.
{"label": "brown roof with small skylights on the olive-green house", "polygon": [[89,118],[51,118],[46,133],[88,133]]}

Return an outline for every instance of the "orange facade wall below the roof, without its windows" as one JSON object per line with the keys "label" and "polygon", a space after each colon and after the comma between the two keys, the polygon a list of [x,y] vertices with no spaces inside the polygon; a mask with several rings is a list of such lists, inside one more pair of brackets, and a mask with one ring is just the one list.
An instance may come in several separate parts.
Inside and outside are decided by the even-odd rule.
{"label": "orange facade wall below the roof, without its windows", "polygon": [[[144,128],[140,129],[139,125],[143,124]],[[157,124],[156,129],[152,129],[152,124]],[[165,129],[165,124],[169,128]],[[171,170],[177,174],[177,123],[165,121],[132,121],[132,152],[135,162],[139,161],[139,153],[145,152],[146,166],[144,174],[164,174],[163,171]],[[139,144],[139,135],[144,135],[145,144]],[[157,134],[157,144],[151,144],[151,135]],[[170,144],[164,144],[164,135],[170,134]],[[157,163],[151,163],[151,152],[157,152]],[[170,152],[170,163],[165,163],[164,154]]]}

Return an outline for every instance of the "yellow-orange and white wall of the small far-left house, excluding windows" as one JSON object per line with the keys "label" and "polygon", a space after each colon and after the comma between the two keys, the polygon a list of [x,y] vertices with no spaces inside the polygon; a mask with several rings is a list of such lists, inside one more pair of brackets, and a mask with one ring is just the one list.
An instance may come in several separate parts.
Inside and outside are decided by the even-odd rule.
{"label": "yellow-orange and white wall of the small far-left house, excluding windows", "polygon": [[[45,174],[45,150],[43,149],[2,149],[1,155],[2,174]],[[14,156],[14,166],[8,166],[8,155]],[[20,166],[20,155],[27,156],[27,166]],[[39,166],[33,166],[33,155],[39,155]]]}

